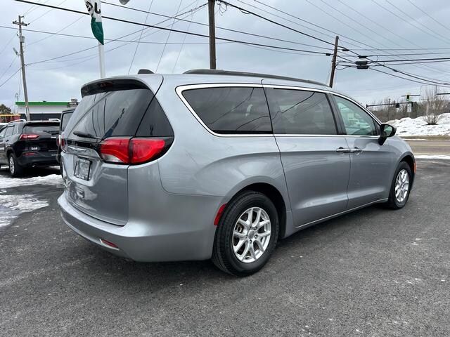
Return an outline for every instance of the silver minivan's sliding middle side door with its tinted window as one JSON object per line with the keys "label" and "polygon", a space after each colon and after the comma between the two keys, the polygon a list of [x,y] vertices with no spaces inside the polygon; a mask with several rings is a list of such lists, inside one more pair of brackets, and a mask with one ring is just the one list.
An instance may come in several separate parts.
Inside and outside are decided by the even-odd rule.
{"label": "silver minivan's sliding middle side door with its tinted window", "polygon": [[326,93],[269,84],[264,90],[296,227],[345,211],[350,158]]}

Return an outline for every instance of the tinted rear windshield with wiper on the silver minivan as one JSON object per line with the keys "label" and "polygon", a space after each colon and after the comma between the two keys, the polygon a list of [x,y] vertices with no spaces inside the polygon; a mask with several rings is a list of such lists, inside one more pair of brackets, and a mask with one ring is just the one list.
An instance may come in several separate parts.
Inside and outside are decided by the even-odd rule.
{"label": "tinted rear windshield with wiper on the silver minivan", "polygon": [[94,142],[134,136],[152,99],[152,91],[143,88],[84,95],[65,133],[73,140]]}

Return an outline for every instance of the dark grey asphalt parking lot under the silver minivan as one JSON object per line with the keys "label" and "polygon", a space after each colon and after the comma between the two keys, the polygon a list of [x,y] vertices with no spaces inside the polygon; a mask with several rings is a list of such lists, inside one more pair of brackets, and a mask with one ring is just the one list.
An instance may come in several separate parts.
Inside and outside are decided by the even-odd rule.
{"label": "dark grey asphalt parking lot under the silver minivan", "polygon": [[245,278],[102,251],[60,219],[58,184],[0,190],[49,204],[0,227],[0,336],[450,336],[450,161],[418,161],[404,209],[309,227]]}

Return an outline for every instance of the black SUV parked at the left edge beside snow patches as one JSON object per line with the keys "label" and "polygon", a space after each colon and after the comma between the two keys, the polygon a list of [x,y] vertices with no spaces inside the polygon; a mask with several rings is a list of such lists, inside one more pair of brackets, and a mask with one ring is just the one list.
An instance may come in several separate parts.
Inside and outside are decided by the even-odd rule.
{"label": "black SUV parked at the left edge beside snow patches", "polygon": [[57,165],[58,122],[9,122],[0,130],[0,165],[8,165],[11,176],[18,177],[27,167]]}

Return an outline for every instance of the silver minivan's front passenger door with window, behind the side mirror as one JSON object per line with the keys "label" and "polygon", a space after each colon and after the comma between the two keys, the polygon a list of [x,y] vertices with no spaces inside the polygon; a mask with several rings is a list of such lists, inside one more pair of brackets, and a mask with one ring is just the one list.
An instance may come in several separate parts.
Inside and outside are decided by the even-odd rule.
{"label": "silver minivan's front passenger door with window, behind the side mirror", "polygon": [[350,178],[347,194],[348,209],[387,198],[394,154],[388,145],[378,144],[378,124],[362,107],[338,95],[333,95],[347,133],[350,154]]}

